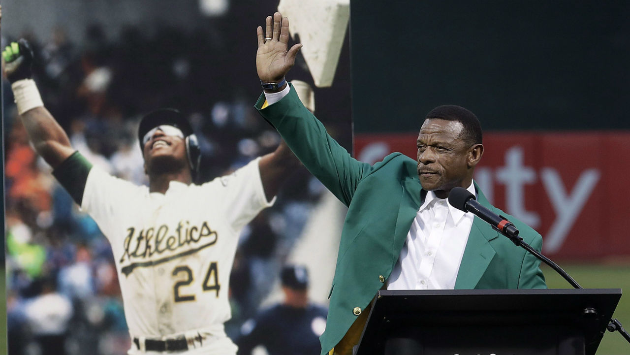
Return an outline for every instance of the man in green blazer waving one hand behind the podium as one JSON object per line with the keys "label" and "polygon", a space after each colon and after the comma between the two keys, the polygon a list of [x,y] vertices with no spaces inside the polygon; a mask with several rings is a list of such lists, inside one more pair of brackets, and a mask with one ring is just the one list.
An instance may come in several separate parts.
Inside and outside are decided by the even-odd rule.
{"label": "man in green blazer waving one hand behind the podium", "polygon": [[[348,206],[330,290],[322,354],[349,354],[366,308],[379,289],[546,288],[540,261],[490,224],[445,202],[454,187],[508,219],[524,241],[541,250],[529,226],[491,206],[473,182],[481,160],[481,125],[454,105],[427,115],[418,156],[392,153],[374,165],[355,160],[304,108],[285,81],[301,44],[287,50],[289,20],[268,16],[257,29],[256,69],[264,95],[256,103],[295,156]],[[459,211],[459,212],[457,212]]]}

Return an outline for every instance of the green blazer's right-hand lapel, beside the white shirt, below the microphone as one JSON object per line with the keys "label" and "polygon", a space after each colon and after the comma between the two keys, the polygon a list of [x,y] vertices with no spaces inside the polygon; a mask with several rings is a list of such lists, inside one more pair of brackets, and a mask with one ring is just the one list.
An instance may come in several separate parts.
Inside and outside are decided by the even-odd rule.
{"label": "green blazer's right-hand lapel, beside the white shirt, below the microphone", "polygon": [[[477,190],[477,201],[483,206],[492,208],[477,184],[475,184],[475,189]],[[490,224],[477,216],[474,217],[455,280],[455,289],[474,289],[477,286],[496,253],[489,242],[498,236],[498,232],[493,230]]]}

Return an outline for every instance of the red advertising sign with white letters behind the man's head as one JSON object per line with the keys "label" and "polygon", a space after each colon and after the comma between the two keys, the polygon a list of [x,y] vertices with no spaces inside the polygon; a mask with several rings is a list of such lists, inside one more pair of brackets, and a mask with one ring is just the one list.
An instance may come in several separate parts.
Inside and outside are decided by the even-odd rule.
{"label": "red advertising sign with white letters behind the man's head", "polygon": [[[355,156],[416,156],[417,133],[357,134]],[[474,179],[492,204],[541,233],[546,255],[629,255],[630,132],[490,132]]]}

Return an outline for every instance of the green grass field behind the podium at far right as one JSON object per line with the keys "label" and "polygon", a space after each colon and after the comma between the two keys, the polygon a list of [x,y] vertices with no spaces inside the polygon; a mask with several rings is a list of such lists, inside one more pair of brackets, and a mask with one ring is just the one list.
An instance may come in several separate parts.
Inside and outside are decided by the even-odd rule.
{"label": "green grass field behind the podium at far right", "polygon": [[[559,264],[583,288],[621,288],[624,293],[630,292],[630,264]],[[571,288],[571,285],[556,274],[550,267],[542,267],[549,288]],[[630,295],[622,294],[614,318],[630,330]],[[630,344],[618,332],[606,332],[597,349],[599,355],[630,354]]]}

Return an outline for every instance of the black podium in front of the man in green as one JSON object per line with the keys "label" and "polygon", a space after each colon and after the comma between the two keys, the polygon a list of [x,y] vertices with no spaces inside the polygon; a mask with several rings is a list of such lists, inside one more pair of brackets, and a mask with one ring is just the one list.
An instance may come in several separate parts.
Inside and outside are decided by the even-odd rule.
{"label": "black podium in front of the man in green", "polygon": [[597,351],[621,289],[387,291],[356,355],[547,355]]}

